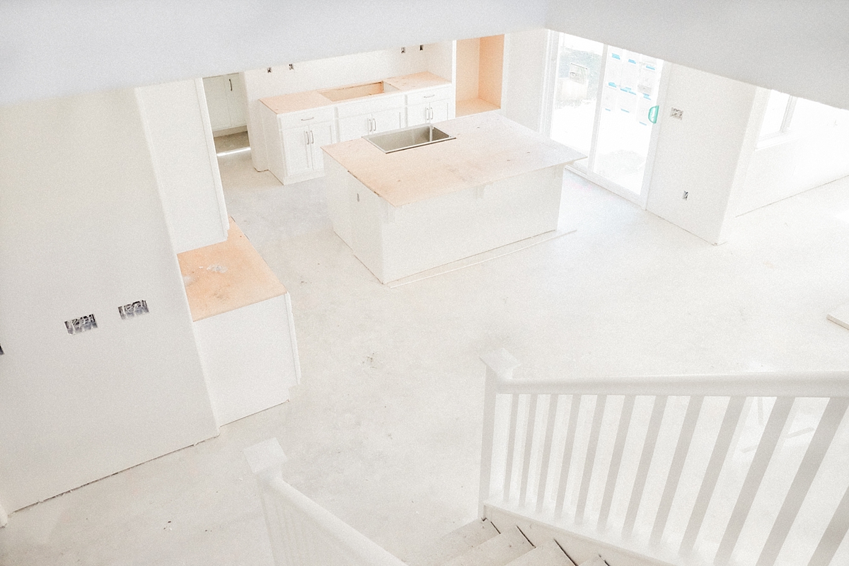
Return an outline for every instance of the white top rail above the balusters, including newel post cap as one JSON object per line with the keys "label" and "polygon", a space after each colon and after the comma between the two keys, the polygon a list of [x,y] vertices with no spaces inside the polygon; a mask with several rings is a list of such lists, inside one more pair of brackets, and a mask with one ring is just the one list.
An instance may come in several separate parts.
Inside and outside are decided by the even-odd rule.
{"label": "white top rail above the balusters, including newel post cap", "polygon": [[[509,357],[505,357],[509,356]],[[515,361],[497,350],[481,361],[498,393],[537,395],[699,395],[728,397],[849,397],[849,372],[756,372],[628,376],[619,378],[514,379]]]}

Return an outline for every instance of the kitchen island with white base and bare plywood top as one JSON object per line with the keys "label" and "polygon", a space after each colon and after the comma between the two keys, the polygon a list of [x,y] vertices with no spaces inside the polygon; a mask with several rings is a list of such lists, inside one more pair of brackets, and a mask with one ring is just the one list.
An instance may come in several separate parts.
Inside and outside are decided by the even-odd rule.
{"label": "kitchen island with white base and bare plywood top", "polygon": [[434,126],[454,139],[322,148],[334,231],[381,283],[556,230],[564,165],[585,157],[492,112]]}

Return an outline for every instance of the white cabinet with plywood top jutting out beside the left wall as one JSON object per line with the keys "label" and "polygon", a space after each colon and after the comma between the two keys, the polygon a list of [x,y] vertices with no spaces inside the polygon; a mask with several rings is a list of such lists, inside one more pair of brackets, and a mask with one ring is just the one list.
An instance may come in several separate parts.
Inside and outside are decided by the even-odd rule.
{"label": "white cabinet with plywood top jutting out beside the left wall", "polygon": [[289,400],[301,377],[286,288],[230,219],[221,244],[177,255],[219,425]]}

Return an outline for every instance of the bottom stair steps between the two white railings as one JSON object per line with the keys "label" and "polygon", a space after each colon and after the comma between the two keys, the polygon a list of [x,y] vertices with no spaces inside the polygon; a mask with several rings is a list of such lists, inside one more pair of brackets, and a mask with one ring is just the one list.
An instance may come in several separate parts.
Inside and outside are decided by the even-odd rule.
{"label": "bottom stair steps between the two white railings", "polygon": [[409,566],[577,566],[554,539],[534,546],[519,527],[499,530],[487,519],[448,533],[407,562]]}

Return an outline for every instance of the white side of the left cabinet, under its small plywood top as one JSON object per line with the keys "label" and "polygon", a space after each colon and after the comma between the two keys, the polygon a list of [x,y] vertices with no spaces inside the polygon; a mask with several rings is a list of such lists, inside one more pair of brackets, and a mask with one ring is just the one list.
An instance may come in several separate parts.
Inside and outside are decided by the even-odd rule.
{"label": "white side of the left cabinet, under its small plywood top", "polygon": [[301,368],[289,294],[194,322],[219,426],[289,401]]}

